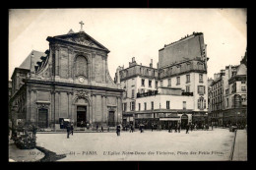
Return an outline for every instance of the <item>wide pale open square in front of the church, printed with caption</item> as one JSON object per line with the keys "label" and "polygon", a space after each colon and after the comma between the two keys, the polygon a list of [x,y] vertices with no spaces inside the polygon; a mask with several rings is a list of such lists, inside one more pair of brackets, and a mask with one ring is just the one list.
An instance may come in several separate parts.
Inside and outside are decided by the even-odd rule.
{"label": "wide pale open square in front of the church, printed with caption", "polygon": [[234,133],[228,129],[193,131],[185,134],[167,131],[140,133],[37,134],[37,145],[67,156],[58,161],[228,161]]}

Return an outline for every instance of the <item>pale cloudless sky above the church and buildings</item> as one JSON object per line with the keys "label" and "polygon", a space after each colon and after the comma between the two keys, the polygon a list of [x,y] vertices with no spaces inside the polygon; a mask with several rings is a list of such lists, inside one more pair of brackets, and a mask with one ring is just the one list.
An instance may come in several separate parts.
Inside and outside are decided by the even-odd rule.
{"label": "pale cloudless sky above the church and buildings", "polygon": [[10,9],[9,80],[32,50],[49,48],[47,36],[66,34],[79,24],[108,53],[112,79],[118,66],[138,64],[157,68],[159,50],[193,31],[207,44],[208,78],[225,66],[238,65],[247,47],[246,9]]}

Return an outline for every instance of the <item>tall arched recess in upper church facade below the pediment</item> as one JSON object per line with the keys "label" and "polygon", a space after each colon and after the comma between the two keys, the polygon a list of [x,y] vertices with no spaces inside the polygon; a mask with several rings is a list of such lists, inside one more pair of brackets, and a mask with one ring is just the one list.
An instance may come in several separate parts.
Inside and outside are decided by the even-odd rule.
{"label": "tall arched recess in upper church facade below the pediment", "polygon": [[74,75],[75,77],[83,76],[88,78],[88,60],[85,56],[77,56],[74,63]]}

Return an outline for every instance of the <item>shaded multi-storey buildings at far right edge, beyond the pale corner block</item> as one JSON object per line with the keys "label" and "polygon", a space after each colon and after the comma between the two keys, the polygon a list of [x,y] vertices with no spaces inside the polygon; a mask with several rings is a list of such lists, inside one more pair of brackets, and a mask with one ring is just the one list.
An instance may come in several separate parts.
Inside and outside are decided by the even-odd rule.
{"label": "shaded multi-storey buildings at far right edge, beyond the pale corner block", "polygon": [[[244,58],[247,58],[245,53]],[[218,126],[247,123],[247,63],[242,59],[240,65],[226,66],[209,86],[209,116]]]}

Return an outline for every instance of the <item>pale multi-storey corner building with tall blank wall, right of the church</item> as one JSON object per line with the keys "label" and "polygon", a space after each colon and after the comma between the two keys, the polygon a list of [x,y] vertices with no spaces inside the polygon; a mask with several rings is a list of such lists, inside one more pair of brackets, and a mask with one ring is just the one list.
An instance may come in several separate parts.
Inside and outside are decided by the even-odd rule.
{"label": "pale multi-storey corner building with tall blank wall, right of the church", "polygon": [[[159,52],[157,69],[137,64],[127,69],[118,67],[115,81],[132,99],[128,102],[123,99],[123,119],[129,115],[135,126],[143,123],[146,127],[152,123],[165,127],[177,123],[182,127],[187,123],[207,123],[206,46],[203,33],[193,33],[164,45]],[[138,68],[137,72],[132,72],[133,68]],[[129,82],[133,84],[127,85]],[[132,110],[127,109],[129,103]]]}

